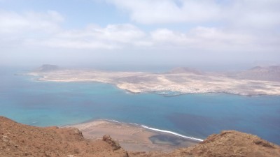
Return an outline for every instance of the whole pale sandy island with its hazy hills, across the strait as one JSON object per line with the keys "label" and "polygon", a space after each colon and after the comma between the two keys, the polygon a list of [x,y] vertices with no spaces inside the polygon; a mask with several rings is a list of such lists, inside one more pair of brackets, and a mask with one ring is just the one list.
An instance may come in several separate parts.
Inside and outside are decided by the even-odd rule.
{"label": "whole pale sandy island with its hazy hills, across the strait", "polygon": [[180,94],[225,93],[241,96],[280,95],[280,66],[254,67],[235,72],[202,72],[174,68],[165,73],[67,69],[43,65],[27,75],[38,81],[101,82],[132,93]]}

